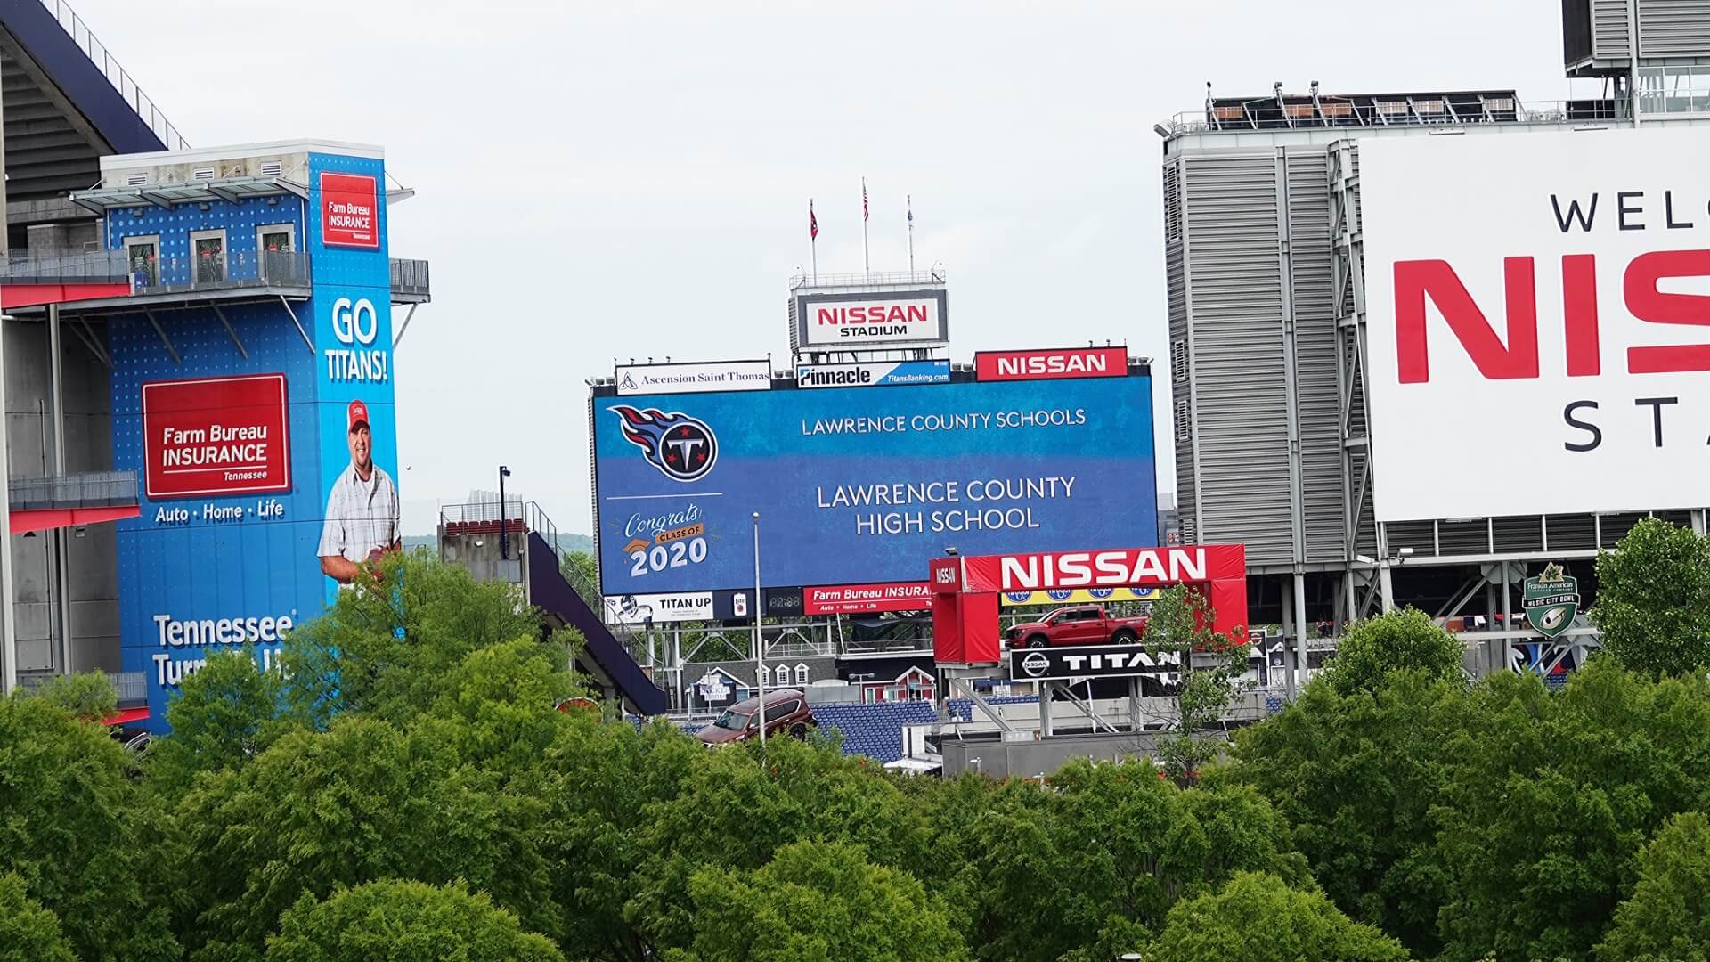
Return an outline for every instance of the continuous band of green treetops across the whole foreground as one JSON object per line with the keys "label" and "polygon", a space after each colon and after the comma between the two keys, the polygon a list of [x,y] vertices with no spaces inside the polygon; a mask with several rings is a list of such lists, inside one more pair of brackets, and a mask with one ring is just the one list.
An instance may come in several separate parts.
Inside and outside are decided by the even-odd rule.
{"label": "continuous band of green treetops across the whole foreground", "polygon": [[[1149,640],[1216,650],[1176,601]],[[1710,962],[1696,669],[1472,683],[1400,613],[1228,753],[1194,719],[1233,659],[1190,673],[1218,685],[1163,774],[901,779],[829,731],[708,751],[557,712],[575,644],[392,558],[286,637],[296,673],[210,656],[140,757],[91,721],[104,680],[0,700],[0,962]]]}

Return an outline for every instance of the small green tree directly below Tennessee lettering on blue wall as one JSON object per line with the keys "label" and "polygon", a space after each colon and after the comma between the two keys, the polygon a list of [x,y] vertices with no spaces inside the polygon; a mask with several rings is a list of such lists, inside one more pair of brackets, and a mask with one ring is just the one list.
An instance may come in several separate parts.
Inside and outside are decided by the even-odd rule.
{"label": "small green tree directly below Tennessee lettering on blue wall", "polygon": [[255,652],[212,652],[166,705],[173,731],[149,745],[149,784],[176,799],[197,772],[236,769],[291,729],[282,721],[284,680]]}

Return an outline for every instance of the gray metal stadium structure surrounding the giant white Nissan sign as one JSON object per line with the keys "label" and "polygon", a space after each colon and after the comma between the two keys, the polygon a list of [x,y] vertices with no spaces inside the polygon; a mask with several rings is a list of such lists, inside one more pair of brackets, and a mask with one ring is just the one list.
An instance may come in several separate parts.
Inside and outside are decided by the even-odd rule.
{"label": "gray metal stadium structure surrounding the giant white Nissan sign", "polygon": [[[1503,618],[1529,570],[1563,563],[1589,608],[1590,560],[1648,514],[1373,514],[1361,144],[1710,123],[1710,74],[1695,67],[1710,58],[1710,3],[1566,0],[1563,36],[1566,75],[1601,79],[1601,96],[1332,96],[1313,82],[1223,98],[1207,86],[1202,111],[1156,125],[1182,537],[1245,543],[1252,620],[1284,623],[1300,652],[1412,604],[1476,626],[1469,642],[1495,642],[1486,666],[1510,664],[1510,640],[1541,640]],[[1426,464],[1524,483],[1501,448],[1433,450]],[[1705,529],[1701,508],[1654,514]],[[1561,640],[1590,633],[1582,621]],[[1556,647],[1571,657],[1571,644]]]}

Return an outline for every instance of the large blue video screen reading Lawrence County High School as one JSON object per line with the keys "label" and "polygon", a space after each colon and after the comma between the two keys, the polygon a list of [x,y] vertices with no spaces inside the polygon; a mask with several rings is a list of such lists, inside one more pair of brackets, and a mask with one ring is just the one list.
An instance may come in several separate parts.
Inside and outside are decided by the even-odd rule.
{"label": "large blue video screen reading Lawrence County High School", "polygon": [[[1158,539],[1151,378],[1139,373],[597,395],[593,448],[612,597],[752,589],[754,514],[764,587],[918,584],[946,548]],[[887,601],[870,594],[821,604]]]}

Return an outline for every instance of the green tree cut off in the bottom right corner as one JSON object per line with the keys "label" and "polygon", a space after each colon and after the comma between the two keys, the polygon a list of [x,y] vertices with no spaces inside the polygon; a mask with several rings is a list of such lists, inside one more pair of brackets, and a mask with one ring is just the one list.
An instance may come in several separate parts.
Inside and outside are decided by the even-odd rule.
{"label": "green tree cut off in the bottom right corner", "polygon": [[1710,820],[1676,815],[1638,854],[1638,885],[1597,945],[1606,962],[1710,960]]}

